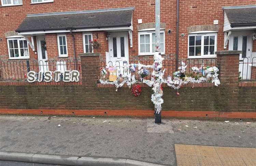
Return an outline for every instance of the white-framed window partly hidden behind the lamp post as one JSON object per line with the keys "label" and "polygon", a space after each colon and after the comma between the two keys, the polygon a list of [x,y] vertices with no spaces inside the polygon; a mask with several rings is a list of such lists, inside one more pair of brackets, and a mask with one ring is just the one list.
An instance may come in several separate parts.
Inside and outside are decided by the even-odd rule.
{"label": "white-framed window partly hidden behind the lamp post", "polygon": [[[139,55],[152,55],[155,53],[156,34],[155,31],[140,31],[139,33]],[[165,31],[160,31],[161,54],[165,54]]]}

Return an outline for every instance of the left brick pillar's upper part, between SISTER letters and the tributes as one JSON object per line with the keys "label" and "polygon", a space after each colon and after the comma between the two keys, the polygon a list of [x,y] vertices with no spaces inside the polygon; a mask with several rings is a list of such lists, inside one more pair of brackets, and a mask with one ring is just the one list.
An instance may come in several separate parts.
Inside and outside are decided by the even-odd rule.
{"label": "left brick pillar's upper part, between SISTER letters and the tributes", "polygon": [[79,54],[81,57],[82,84],[96,87],[100,74],[100,53]]}

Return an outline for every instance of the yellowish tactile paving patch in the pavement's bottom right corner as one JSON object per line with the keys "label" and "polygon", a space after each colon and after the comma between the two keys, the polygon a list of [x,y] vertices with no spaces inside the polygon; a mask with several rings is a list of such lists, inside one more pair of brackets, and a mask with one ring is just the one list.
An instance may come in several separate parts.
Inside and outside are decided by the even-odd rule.
{"label": "yellowish tactile paving patch in the pavement's bottom right corner", "polygon": [[175,144],[178,166],[256,166],[256,148]]}

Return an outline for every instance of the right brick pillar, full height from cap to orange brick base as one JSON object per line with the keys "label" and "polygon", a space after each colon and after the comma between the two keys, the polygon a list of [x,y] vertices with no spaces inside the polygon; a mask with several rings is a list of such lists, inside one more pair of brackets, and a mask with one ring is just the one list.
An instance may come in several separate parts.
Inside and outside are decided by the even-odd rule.
{"label": "right brick pillar, full height from cap to orange brick base", "polygon": [[237,111],[239,108],[239,54],[241,51],[217,51],[219,68],[219,114]]}

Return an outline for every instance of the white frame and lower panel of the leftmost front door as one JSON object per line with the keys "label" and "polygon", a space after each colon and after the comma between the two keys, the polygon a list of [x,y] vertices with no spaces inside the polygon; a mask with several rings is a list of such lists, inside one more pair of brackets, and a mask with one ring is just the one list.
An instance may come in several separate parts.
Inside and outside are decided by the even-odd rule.
{"label": "white frame and lower panel of the leftmost front door", "polygon": [[[42,59],[42,50],[41,50],[41,40],[45,40],[45,36],[37,36],[37,54],[38,54],[38,66],[39,71],[47,71],[48,70],[48,57],[47,51],[45,50],[45,59]],[[43,62],[43,64],[42,64]],[[43,66],[41,66],[43,65]]]}

